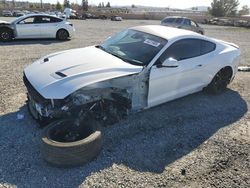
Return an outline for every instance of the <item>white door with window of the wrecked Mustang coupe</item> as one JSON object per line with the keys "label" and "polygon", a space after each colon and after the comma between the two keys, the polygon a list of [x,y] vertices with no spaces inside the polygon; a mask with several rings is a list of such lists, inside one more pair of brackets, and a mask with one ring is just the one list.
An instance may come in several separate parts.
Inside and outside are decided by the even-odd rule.
{"label": "white door with window of the wrecked Mustang coupe", "polygon": [[[166,59],[176,59],[176,66],[157,66]],[[209,58],[201,56],[200,40],[183,39],[172,44],[151,68],[148,107],[197,92],[209,80]]]}

